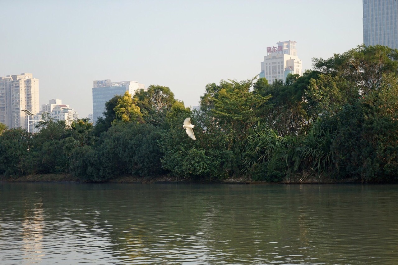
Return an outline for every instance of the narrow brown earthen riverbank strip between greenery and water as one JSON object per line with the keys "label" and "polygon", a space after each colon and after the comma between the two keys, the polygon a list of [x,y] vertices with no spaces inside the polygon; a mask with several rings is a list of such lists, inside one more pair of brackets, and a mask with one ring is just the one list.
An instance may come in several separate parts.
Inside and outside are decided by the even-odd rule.
{"label": "narrow brown earthen riverbank strip between greenery and water", "polygon": [[[81,182],[70,174],[36,174],[26,176],[0,176],[0,182]],[[228,178],[224,180],[211,180],[207,178],[177,178],[173,176],[157,176],[157,177],[140,177],[140,176],[120,176],[101,183],[165,183],[165,182],[181,182],[181,183],[238,183],[238,184],[260,184],[269,183],[264,181],[254,181],[250,178]],[[307,179],[304,181],[291,180],[282,182],[273,182],[280,184],[335,184],[335,183],[361,183],[361,181],[351,179],[332,180],[324,179]]]}

